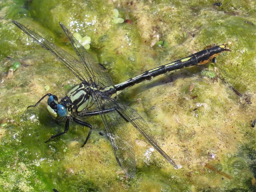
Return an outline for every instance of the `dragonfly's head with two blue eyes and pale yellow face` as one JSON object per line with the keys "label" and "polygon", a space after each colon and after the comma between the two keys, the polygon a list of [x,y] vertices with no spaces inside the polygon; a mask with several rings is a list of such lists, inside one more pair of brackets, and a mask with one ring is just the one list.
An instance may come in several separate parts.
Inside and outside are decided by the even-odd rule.
{"label": "dragonfly's head with two blue eyes and pale yellow face", "polygon": [[59,103],[56,95],[49,96],[47,104],[47,109],[52,116],[58,118],[65,117],[68,115],[67,108]]}

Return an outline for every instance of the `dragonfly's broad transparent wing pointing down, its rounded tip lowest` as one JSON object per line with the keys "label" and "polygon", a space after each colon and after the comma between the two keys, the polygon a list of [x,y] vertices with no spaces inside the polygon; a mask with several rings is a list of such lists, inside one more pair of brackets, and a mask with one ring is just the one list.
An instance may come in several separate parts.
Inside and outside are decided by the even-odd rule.
{"label": "dragonfly's broad transparent wing pointing down, its rounded tip lowest", "polygon": [[[101,95],[97,92],[93,93],[92,98],[99,111],[115,106],[112,103],[105,103],[104,105]],[[118,164],[122,167],[126,175],[134,177],[135,155],[132,140],[126,126],[127,122],[117,111],[100,113],[100,116],[107,129]]]}

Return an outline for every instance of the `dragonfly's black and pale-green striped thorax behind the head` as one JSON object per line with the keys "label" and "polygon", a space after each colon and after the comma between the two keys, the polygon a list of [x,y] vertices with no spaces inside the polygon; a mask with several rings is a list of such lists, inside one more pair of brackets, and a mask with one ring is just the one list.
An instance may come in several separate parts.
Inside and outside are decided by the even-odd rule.
{"label": "dragonfly's black and pale-green striped thorax behind the head", "polygon": [[96,84],[81,83],[73,87],[61,100],[68,111],[81,112],[93,106],[92,90],[98,90]]}

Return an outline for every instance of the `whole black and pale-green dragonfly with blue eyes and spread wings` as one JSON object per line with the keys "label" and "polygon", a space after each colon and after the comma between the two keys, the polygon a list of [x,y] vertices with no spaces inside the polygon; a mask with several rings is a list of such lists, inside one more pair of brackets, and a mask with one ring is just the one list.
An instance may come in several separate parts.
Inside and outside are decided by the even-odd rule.
{"label": "whole black and pale-green dragonfly with blue eyes and spread wings", "polygon": [[73,121],[90,129],[82,145],[84,147],[91,135],[92,125],[80,120],[79,117],[99,115],[107,130],[116,160],[127,176],[134,177],[136,173],[135,154],[127,129],[128,123],[132,124],[174,168],[178,169],[172,158],[157,144],[147,122],[134,109],[118,102],[113,95],[117,91],[124,90],[144,80],[150,80],[168,71],[204,64],[211,59],[215,60],[220,52],[229,51],[225,44],[204,49],[183,59],[145,71],[122,83],[114,84],[106,69],[86,51],[62,23],[60,23],[60,26],[79,59],[19,22],[14,20],[12,22],[47,51],[51,52],[81,81],[60,100],[56,95],[47,93],[35,105],[28,106],[28,108],[36,107],[48,96],[47,109],[49,113],[54,118],[66,120],[64,131],[51,136],[45,143],[67,133],[69,122]]}

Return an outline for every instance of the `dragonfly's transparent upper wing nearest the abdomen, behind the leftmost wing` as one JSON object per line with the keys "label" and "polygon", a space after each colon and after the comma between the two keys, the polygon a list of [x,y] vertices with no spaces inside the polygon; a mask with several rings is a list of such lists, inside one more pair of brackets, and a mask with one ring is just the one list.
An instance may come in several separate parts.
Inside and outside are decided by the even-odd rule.
{"label": "dragonfly's transparent upper wing nearest the abdomen, behind the leftmost wing", "polygon": [[[91,79],[99,85],[101,88],[113,85],[113,80],[107,71],[97,62],[90,53],[76,40],[76,38],[70,33],[70,31],[60,23],[63,31],[65,32],[68,40],[72,44],[76,54],[84,63],[84,68],[88,71]],[[92,83],[92,82],[91,82]]]}

